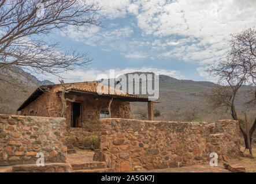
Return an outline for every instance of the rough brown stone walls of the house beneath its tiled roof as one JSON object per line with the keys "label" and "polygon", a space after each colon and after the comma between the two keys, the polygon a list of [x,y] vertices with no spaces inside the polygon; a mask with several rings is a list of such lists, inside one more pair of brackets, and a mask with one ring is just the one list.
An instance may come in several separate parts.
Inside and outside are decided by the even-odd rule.
{"label": "rough brown stone walls of the house beneath its tiled roof", "polygon": [[[97,83],[84,82],[84,83],[71,83],[71,87],[76,87],[79,89],[86,89],[87,85],[96,85]],[[34,112],[34,116],[42,117],[60,117],[60,112],[62,109],[62,102],[60,96],[57,94],[61,90],[60,85],[52,85],[49,91],[44,92],[40,97],[38,97],[34,102],[29,104],[23,110],[21,110],[20,115],[29,116],[30,112]],[[66,98],[73,99],[75,95],[65,95]],[[91,130],[91,124],[95,124],[94,127],[97,128],[99,124],[99,113],[102,110],[108,110],[110,99],[107,98],[94,98],[90,96],[76,96],[76,102],[81,102],[81,109],[83,111],[83,117],[81,126],[82,128],[87,128],[88,131]],[[68,108],[66,109],[66,123],[68,127],[71,127],[71,111],[72,104],[67,102]],[[128,101],[113,100],[111,105],[112,117],[114,118],[132,118],[131,106]],[[99,129],[98,129],[99,131]]]}

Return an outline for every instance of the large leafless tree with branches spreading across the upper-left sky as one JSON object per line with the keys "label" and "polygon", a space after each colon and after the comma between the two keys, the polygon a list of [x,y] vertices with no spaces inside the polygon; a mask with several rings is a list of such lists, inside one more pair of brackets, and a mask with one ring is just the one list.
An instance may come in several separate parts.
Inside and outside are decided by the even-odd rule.
{"label": "large leafless tree with branches spreading across the upper-left sky", "polygon": [[[87,53],[63,52],[58,43],[44,37],[68,25],[99,26],[97,3],[86,0],[0,1],[0,72],[25,71],[58,75],[91,60]],[[22,75],[22,74],[21,74]],[[9,82],[0,78],[0,81]]]}

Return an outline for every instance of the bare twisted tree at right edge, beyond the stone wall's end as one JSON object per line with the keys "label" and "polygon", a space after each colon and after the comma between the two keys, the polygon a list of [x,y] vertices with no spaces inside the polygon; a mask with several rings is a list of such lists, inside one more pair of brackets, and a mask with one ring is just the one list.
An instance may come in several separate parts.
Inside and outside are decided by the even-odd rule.
{"label": "bare twisted tree at right edge, beyond the stone wall's end", "polygon": [[[256,76],[256,33],[254,29],[247,29],[238,34],[232,34],[231,51],[227,58],[219,63],[213,64],[207,70],[213,76],[217,76],[219,83],[225,86],[217,86],[209,99],[213,106],[219,108],[225,106],[231,110],[231,116],[234,120],[239,120],[235,108],[235,99],[242,85],[251,85],[255,87]],[[255,104],[256,89],[253,99],[248,104]],[[254,106],[254,105],[253,105]],[[244,131],[241,120],[239,120],[240,131],[243,133],[246,148],[247,136]],[[256,128],[256,118],[253,126],[250,128],[250,140]]]}

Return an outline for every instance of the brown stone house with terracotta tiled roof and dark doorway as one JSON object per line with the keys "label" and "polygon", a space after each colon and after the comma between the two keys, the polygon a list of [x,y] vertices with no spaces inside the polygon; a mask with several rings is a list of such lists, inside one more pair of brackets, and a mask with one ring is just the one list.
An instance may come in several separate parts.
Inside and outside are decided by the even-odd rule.
{"label": "brown stone house with terracotta tiled roof and dark doorway", "polygon": [[[68,83],[69,91],[65,118],[71,128],[90,128],[100,122],[101,118],[109,117],[109,103],[113,99],[110,111],[112,118],[132,118],[130,102],[148,102],[149,120],[153,120],[153,102],[147,97],[131,94],[98,94],[98,82]],[[61,85],[47,85],[47,91],[38,87],[31,96],[17,109],[23,116],[60,117],[62,102],[60,98]],[[108,87],[110,89],[110,87]]]}

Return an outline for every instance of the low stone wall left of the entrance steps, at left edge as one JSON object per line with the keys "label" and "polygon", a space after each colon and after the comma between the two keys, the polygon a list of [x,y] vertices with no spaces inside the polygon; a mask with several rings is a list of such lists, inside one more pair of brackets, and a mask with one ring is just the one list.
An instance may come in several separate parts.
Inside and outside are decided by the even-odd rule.
{"label": "low stone wall left of the entrance steps, at left edge", "polygon": [[67,136],[65,118],[0,114],[0,166],[65,162]]}

